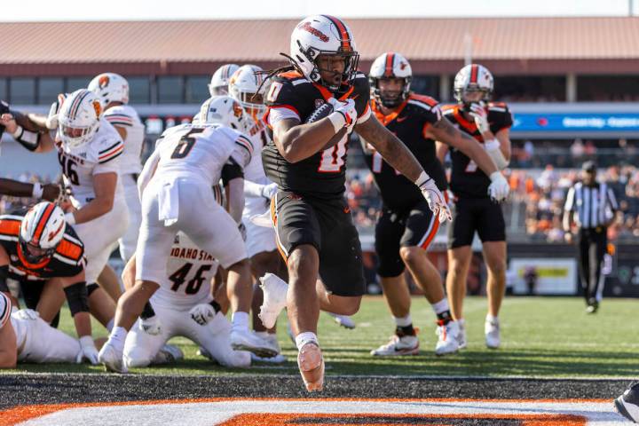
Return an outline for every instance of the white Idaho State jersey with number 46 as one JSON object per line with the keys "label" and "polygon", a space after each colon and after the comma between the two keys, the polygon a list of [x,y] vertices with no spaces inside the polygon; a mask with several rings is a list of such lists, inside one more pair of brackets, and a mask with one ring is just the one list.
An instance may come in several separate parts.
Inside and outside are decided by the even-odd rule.
{"label": "white Idaho State jersey with number 46", "polygon": [[167,277],[151,297],[151,304],[187,311],[196,304],[208,303],[217,265],[217,260],[185,233],[177,233],[167,261]]}

